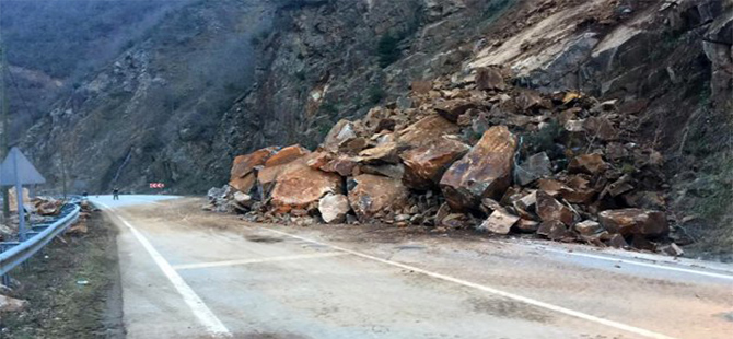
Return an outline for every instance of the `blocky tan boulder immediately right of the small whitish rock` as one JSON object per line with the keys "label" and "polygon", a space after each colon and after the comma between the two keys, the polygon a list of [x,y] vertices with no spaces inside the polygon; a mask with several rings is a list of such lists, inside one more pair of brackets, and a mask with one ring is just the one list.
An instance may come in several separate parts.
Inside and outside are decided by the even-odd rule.
{"label": "blocky tan boulder immediately right of the small whitish rock", "polygon": [[353,180],[357,185],[349,191],[349,203],[361,220],[407,206],[408,191],[402,180],[372,174],[359,175]]}

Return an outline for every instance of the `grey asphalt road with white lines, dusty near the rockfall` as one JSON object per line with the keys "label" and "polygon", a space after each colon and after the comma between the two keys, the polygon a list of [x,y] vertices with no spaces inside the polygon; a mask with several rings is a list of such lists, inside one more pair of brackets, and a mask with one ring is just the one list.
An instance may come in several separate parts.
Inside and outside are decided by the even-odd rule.
{"label": "grey asphalt road with white lines, dusty near the rockfall", "polygon": [[[246,224],[92,197],[129,338],[731,338],[733,267],[546,242]],[[198,204],[197,204],[198,203]]]}

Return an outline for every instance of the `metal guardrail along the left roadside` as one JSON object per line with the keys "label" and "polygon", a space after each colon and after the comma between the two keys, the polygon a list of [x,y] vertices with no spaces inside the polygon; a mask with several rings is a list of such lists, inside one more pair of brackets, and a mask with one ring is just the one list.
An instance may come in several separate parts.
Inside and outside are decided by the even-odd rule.
{"label": "metal guardrail along the left roadside", "polygon": [[[10,270],[23,264],[38,250],[44,248],[51,239],[66,231],[79,219],[81,208],[78,204],[67,204],[61,211],[61,218],[50,224],[34,225],[27,233],[25,242],[0,243],[0,276],[5,276]],[[10,247],[10,248],[8,248]],[[5,250],[7,249],[7,250]]]}

